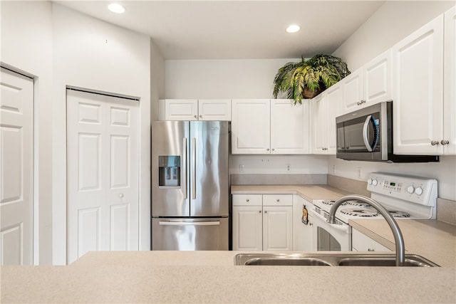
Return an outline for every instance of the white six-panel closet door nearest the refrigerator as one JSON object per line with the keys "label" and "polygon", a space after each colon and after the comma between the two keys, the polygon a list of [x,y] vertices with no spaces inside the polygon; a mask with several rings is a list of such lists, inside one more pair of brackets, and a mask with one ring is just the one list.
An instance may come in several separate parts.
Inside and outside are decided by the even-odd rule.
{"label": "white six-panel closet door nearest the refrigerator", "polygon": [[138,101],[67,90],[68,263],[138,250]]}

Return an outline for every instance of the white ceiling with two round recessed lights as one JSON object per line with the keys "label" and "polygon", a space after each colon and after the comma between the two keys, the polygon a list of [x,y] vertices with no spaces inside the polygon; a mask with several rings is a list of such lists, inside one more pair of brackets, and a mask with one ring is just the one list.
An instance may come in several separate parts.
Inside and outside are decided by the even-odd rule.
{"label": "white ceiling with two round recessed lights", "polygon": [[[331,54],[385,1],[53,1],[152,37],[165,59]],[[301,26],[286,33],[290,23]]]}

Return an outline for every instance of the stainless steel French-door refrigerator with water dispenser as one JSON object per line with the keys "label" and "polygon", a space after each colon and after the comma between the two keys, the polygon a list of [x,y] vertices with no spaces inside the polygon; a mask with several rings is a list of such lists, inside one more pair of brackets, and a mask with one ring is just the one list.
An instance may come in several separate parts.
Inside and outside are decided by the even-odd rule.
{"label": "stainless steel French-door refrigerator with water dispenser", "polygon": [[228,122],[152,122],[152,250],[228,250]]}

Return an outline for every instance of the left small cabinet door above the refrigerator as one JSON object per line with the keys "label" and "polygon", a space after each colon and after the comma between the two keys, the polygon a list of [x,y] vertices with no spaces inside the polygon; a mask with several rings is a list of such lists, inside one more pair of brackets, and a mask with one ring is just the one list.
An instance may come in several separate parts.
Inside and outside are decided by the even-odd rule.
{"label": "left small cabinet door above the refrigerator", "polygon": [[165,120],[198,120],[198,100],[165,100]]}

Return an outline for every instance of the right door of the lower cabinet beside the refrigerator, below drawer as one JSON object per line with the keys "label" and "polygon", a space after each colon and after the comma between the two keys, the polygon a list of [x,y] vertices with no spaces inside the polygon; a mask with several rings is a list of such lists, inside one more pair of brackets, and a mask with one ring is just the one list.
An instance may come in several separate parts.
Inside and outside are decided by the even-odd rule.
{"label": "right door of the lower cabinet beside the refrigerator, below drawer", "polygon": [[293,250],[292,206],[263,206],[263,250]]}

